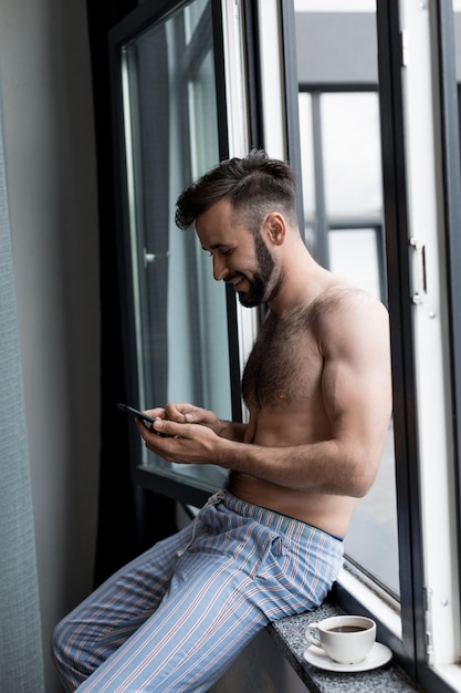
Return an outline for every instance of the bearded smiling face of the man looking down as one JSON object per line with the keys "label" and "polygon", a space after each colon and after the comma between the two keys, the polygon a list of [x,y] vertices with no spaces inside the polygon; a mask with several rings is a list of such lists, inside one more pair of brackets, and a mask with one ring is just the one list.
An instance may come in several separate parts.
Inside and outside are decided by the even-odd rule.
{"label": "bearded smiling face of the man looking down", "polygon": [[213,277],[231,283],[245,308],[269,301],[279,281],[275,261],[261,234],[235,223],[229,200],[221,200],[196,221],[203,250],[213,259]]}

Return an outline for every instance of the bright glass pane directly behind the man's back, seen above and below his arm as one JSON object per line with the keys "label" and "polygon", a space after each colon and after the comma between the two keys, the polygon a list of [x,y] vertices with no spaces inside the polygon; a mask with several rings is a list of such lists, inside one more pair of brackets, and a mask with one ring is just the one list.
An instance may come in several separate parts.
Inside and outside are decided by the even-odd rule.
{"label": "bright glass pane directly behind the man's back, seen above and below his arm", "polygon": [[[347,18],[354,30],[349,35],[343,30],[345,13],[325,13],[318,3],[303,3],[296,51],[298,74],[304,75],[301,156],[311,245],[321,263],[386,303],[379,102],[376,74],[364,72],[365,63],[373,64],[364,63],[364,51],[368,58],[377,51],[374,8],[370,2],[368,12]],[[310,54],[313,43],[315,62]],[[332,45],[340,52],[331,51]],[[377,479],[346,535],[345,554],[392,596],[400,593],[392,424]]]}

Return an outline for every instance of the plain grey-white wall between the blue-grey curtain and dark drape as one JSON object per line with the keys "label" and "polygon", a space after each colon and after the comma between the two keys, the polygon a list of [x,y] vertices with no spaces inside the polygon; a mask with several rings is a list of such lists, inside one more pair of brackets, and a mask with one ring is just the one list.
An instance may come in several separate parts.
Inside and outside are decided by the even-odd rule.
{"label": "plain grey-white wall between the blue-grey curtain and dark drape", "polygon": [[92,588],[98,247],[85,0],[1,0],[0,92],[46,693],[54,623]]}

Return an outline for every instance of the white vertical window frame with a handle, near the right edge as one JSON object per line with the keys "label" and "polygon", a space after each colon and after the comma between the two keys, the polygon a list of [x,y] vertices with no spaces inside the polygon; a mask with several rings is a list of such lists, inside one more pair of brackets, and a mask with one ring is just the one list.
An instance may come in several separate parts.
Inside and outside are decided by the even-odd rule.
{"label": "white vertical window frame with a handle, near the right edge", "polygon": [[[460,603],[436,20],[433,3],[400,1],[427,662],[444,676],[460,655]],[[458,666],[451,675],[460,690]]]}

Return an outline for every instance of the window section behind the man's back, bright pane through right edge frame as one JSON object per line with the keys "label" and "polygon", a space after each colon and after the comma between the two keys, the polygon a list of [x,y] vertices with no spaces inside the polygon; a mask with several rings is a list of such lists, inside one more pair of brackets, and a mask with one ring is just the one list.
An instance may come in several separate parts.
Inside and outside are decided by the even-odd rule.
{"label": "window section behind the man's back, bright pane through right edge frame", "polygon": [[[346,575],[337,593],[355,596],[350,608],[383,617],[397,659],[425,690],[461,690],[461,8],[378,0],[375,15],[374,4],[296,2],[306,240],[332,269],[355,267],[353,276],[371,290],[385,276],[379,293],[389,306],[392,337],[394,431],[385,478],[360,504],[345,544],[347,568],[358,570],[371,594],[376,586],[384,592],[374,600]],[[378,29],[379,122],[371,101],[366,104],[378,94],[375,49],[367,52],[370,18]],[[354,106],[362,99],[362,107]],[[336,106],[331,113],[328,100]],[[348,122],[357,124],[353,156],[342,143]],[[384,205],[369,204],[378,199],[370,164],[376,135],[375,144],[365,144],[373,122],[375,132],[380,126]],[[371,178],[364,185],[360,172]],[[386,239],[378,240],[384,228]],[[349,252],[355,244],[359,250]],[[387,596],[396,598],[389,603],[398,607],[397,619],[381,608]]]}

